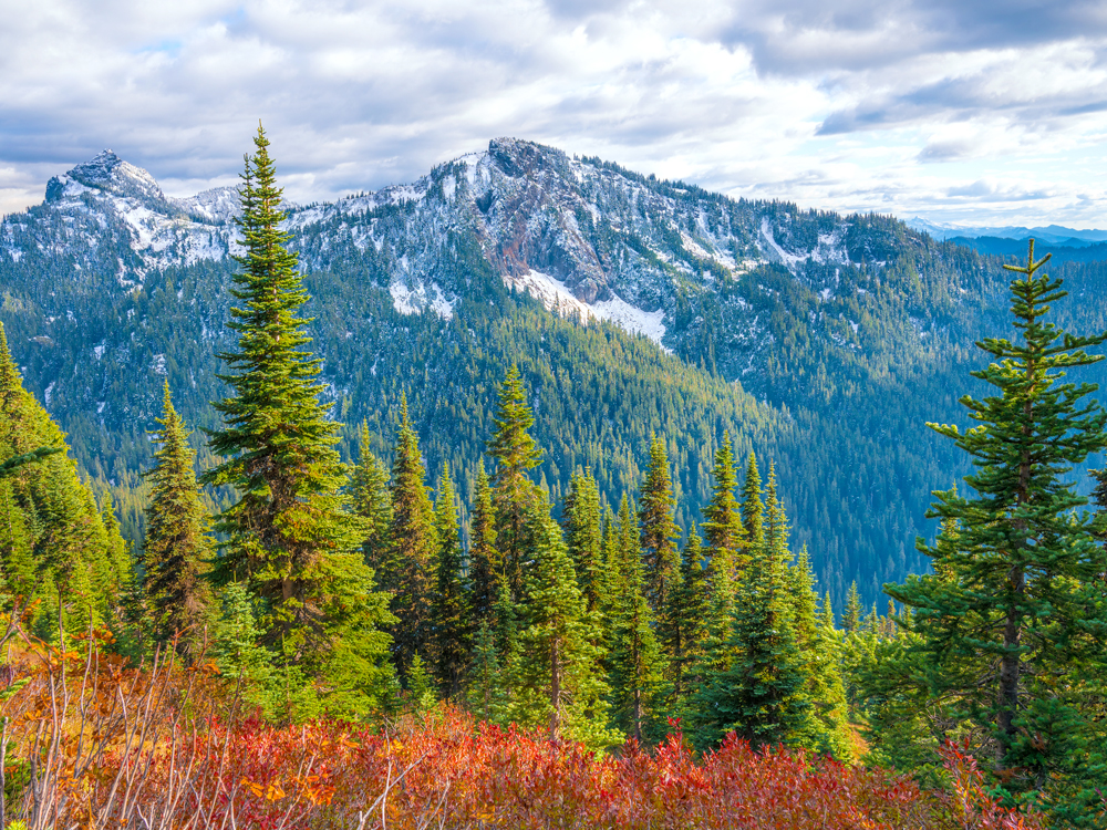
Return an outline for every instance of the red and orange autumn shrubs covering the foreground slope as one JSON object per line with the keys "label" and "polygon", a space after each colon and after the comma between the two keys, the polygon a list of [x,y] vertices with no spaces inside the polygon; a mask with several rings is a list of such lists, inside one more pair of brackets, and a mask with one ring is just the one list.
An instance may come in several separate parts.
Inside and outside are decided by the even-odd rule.
{"label": "red and orange autumn shrubs covering the foreground slope", "polygon": [[[652,751],[630,741],[594,755],[452,707],[383,730],[275,727],[237,718],[206,668],[136,672],[93,647],[37,646],[19,672],[30,682],[2,704],[8,766],[38,765],[0,820],[30,828],[1037,828],[999,808],[956,747],[949,791],[924,792],[904,776],[733,736],[696,757],[676,723]],[[32,809],[44,801],[52,812]]]}

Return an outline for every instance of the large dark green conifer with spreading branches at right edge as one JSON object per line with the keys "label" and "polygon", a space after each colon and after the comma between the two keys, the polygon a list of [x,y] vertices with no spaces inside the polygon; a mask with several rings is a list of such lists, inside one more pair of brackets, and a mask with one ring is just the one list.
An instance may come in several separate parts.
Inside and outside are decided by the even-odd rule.
{"label": "large dark green conifer with spreading branches at right edge", "polygon": [[977,426],[931,425],[976,468],[965,477],[975,496],[935,492],[931,515],[958,522],[956,550],[920,541],[935,574],[884,590],[913,611],[919,650],[935,667],[932,696],[956,693],[960,710],[992,730],[1006,786],[1047,787],[1079,809],[1094,798],[1082,789],[1080,759],[1101,737],[1079,689],[1107,667],[1107,554],[1065,474],[1107,446],[1107,413],[1082,402],[1095,385],[1061,381],[1101,360],[1084,350],[1107,334],[1076,336],[1047,322],[1066,292],[1038,274],[1046,259],[1034,260],[1031,240],[1026,266],[1005,266],[1018,272],[1011,293],[1021,339],[976,344],[992,362],[973,375],[999,393],[961,398]]}

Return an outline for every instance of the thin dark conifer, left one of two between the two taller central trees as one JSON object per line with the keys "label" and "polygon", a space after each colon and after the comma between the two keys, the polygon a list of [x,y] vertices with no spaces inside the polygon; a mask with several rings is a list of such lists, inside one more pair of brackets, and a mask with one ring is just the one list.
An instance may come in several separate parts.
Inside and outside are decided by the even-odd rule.
{"label": "thin dark conifer, left one of two between the two taller central trees", "polygon": [[469,592],[462,574],[462,537],[457,523],[449,466],[443,465],[435,505],[438,539],[437,580],[434,592],[435,674],[443,696],[457,699],[469,661],[472,639]]}

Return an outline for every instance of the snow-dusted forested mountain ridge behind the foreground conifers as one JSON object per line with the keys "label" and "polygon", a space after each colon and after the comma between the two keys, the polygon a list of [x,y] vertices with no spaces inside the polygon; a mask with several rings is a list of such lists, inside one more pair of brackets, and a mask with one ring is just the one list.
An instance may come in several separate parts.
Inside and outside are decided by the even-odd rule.
{"label": "snow-dusted forested mountain ridge behind the foreground conifers", "polygon": [[[167,197],[105,151],[0,222],[13,355],[132,538],[163,381],[190,426],[215,426],[235,196]],[[966,471],[923,424],[964,423],[971,344],[1007,328],[996,257],[509,138],[412,184],[289,206],[288,228],[344,452],[364,419],[387,457],[406,394],[432,474],[448,461],[467,494],[515,362],[555,499],[578,466],[609,504],[635,492],[652,430],[687,528],[728,429],[741,457],[775,461],[794,541],[839,604],[852,580],[876,601],[923,567],[930,491]],[[1063,268],[1101,295],[1100,264]],[[1098,307],[1064,313],[1103,329]]]}

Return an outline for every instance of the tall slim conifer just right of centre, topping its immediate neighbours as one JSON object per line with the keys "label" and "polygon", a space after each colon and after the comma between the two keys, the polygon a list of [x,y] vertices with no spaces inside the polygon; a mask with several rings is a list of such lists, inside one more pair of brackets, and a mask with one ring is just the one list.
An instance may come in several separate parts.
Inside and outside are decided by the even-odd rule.
{"label": "tall slim conifer just right of centre, topping its immediate neighbours", "polygon": [[642,526],[642,556],[648,574],[646,596],[655,614],[663,614],[669,594],[680,580],[676,540],[680,529],[673,521],[676,497],[669,475],[665,445],[650,434],[650,466],[639,495],[638,520]]}

